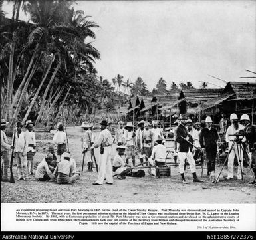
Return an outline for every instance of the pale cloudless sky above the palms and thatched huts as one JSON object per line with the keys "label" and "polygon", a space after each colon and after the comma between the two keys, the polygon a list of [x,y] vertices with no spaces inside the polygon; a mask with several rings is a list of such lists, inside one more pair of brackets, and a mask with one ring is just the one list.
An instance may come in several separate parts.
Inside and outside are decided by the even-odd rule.
{"label": "pale cloudless sky above the palms and thatched huts", "polygon": [[[256,81],[240,78],[256,72],[256,1],[77,1],[74,8],[100,25],[95,68],[108,80],[140,76],[148,90],[161,77],[168,88],[173,81],[225,86],[209,75]],[[11,16],[10,5],[3,10]]]}

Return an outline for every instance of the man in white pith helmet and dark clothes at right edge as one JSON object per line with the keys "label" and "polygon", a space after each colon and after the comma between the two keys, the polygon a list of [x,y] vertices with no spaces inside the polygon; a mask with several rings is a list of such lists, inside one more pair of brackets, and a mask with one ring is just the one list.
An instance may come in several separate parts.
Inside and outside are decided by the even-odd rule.
{"label": "man in white pith helmet and dark clothes at right edge", "polygon": [[[245,126],[244,132],[247,140],[247,151],[249,152],[251,168],[253,169],[254,176],[256,176],[256,130],[247,114],[241,116],[240,122]],[[255,184],[255,181],[250,183]]]}

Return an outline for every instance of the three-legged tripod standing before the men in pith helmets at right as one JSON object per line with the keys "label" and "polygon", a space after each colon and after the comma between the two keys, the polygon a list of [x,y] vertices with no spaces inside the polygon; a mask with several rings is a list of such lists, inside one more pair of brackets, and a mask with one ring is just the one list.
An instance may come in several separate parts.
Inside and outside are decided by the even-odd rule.
{"label": "three-legged tripod standing before the men in pith helmets at right", "polygon": [[[250,166],[250,163],[249,163],[249,156],[245,150],[245,148],[243,147],[243,144],[242,144],[242,138],[239,138],[239,136],[243,136],[243,134],[234,134],[234,135],[229,135],[229,136],[235,136],[235,139],[233,140],[233,144],[229,150],[229,153],[227,154],[227,157],[225,158],[225,162],[221,168],[221,172],[229,158],[229,155],[231,153],[231,151],[233,149],[235,149],[235,145],[237,146],[237,154],[235,154],[237,156],[237,161],[239,162],[239,166],[240,166],[240,170],[241,170],[241,178],[243,180],[243,166],[242,166],[242,157],[241,157],[241,154],[242,154],[242,151],[243,151],[243,155],[245,156],[245,160],[247,161],[247,163],[249,164],[249,168],[251,170],[251,174],[253,174],[253,178],[254,178],[254,181],[256,181],[255,179],[255,175],[253,173],[253,170],[251,169],[251,166]],[[219,176],[221,175],[221,172],[219,172]],[[217,179],[215,180],[214,183],[217,183],[219,181],[219,176],[217,177]]]}

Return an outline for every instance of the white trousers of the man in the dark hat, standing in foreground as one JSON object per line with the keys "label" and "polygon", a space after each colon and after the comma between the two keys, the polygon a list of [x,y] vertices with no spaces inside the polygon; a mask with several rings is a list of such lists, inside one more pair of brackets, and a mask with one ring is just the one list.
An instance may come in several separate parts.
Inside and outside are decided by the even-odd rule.
{"label": "white trousers of the man in the dark hat, standing in foreground", "polygon": [[96,183],[103,184],[106,176],[107,183],[113,183],[112,164],[111,164],[111,147],[104,147],[104,153],[98,158],[98,180]]}

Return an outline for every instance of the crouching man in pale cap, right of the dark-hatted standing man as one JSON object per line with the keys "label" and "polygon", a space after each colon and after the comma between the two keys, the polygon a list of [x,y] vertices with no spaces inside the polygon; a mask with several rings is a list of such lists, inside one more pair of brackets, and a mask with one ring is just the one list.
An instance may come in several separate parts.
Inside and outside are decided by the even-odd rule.
{"label": "crouching man in pale cap, right of the dark-hatted standing man", "polygon": [[130,167],[128,164],[122,160],[122,156],[124,155],[124,152],[126,150],[126,146],[118,146],[116,148],[117,154],[114,156],[113,160],[113,175],[116,176],[118,179],[124,179],[126,178],[126,174],[130,171],[128,167]]}

